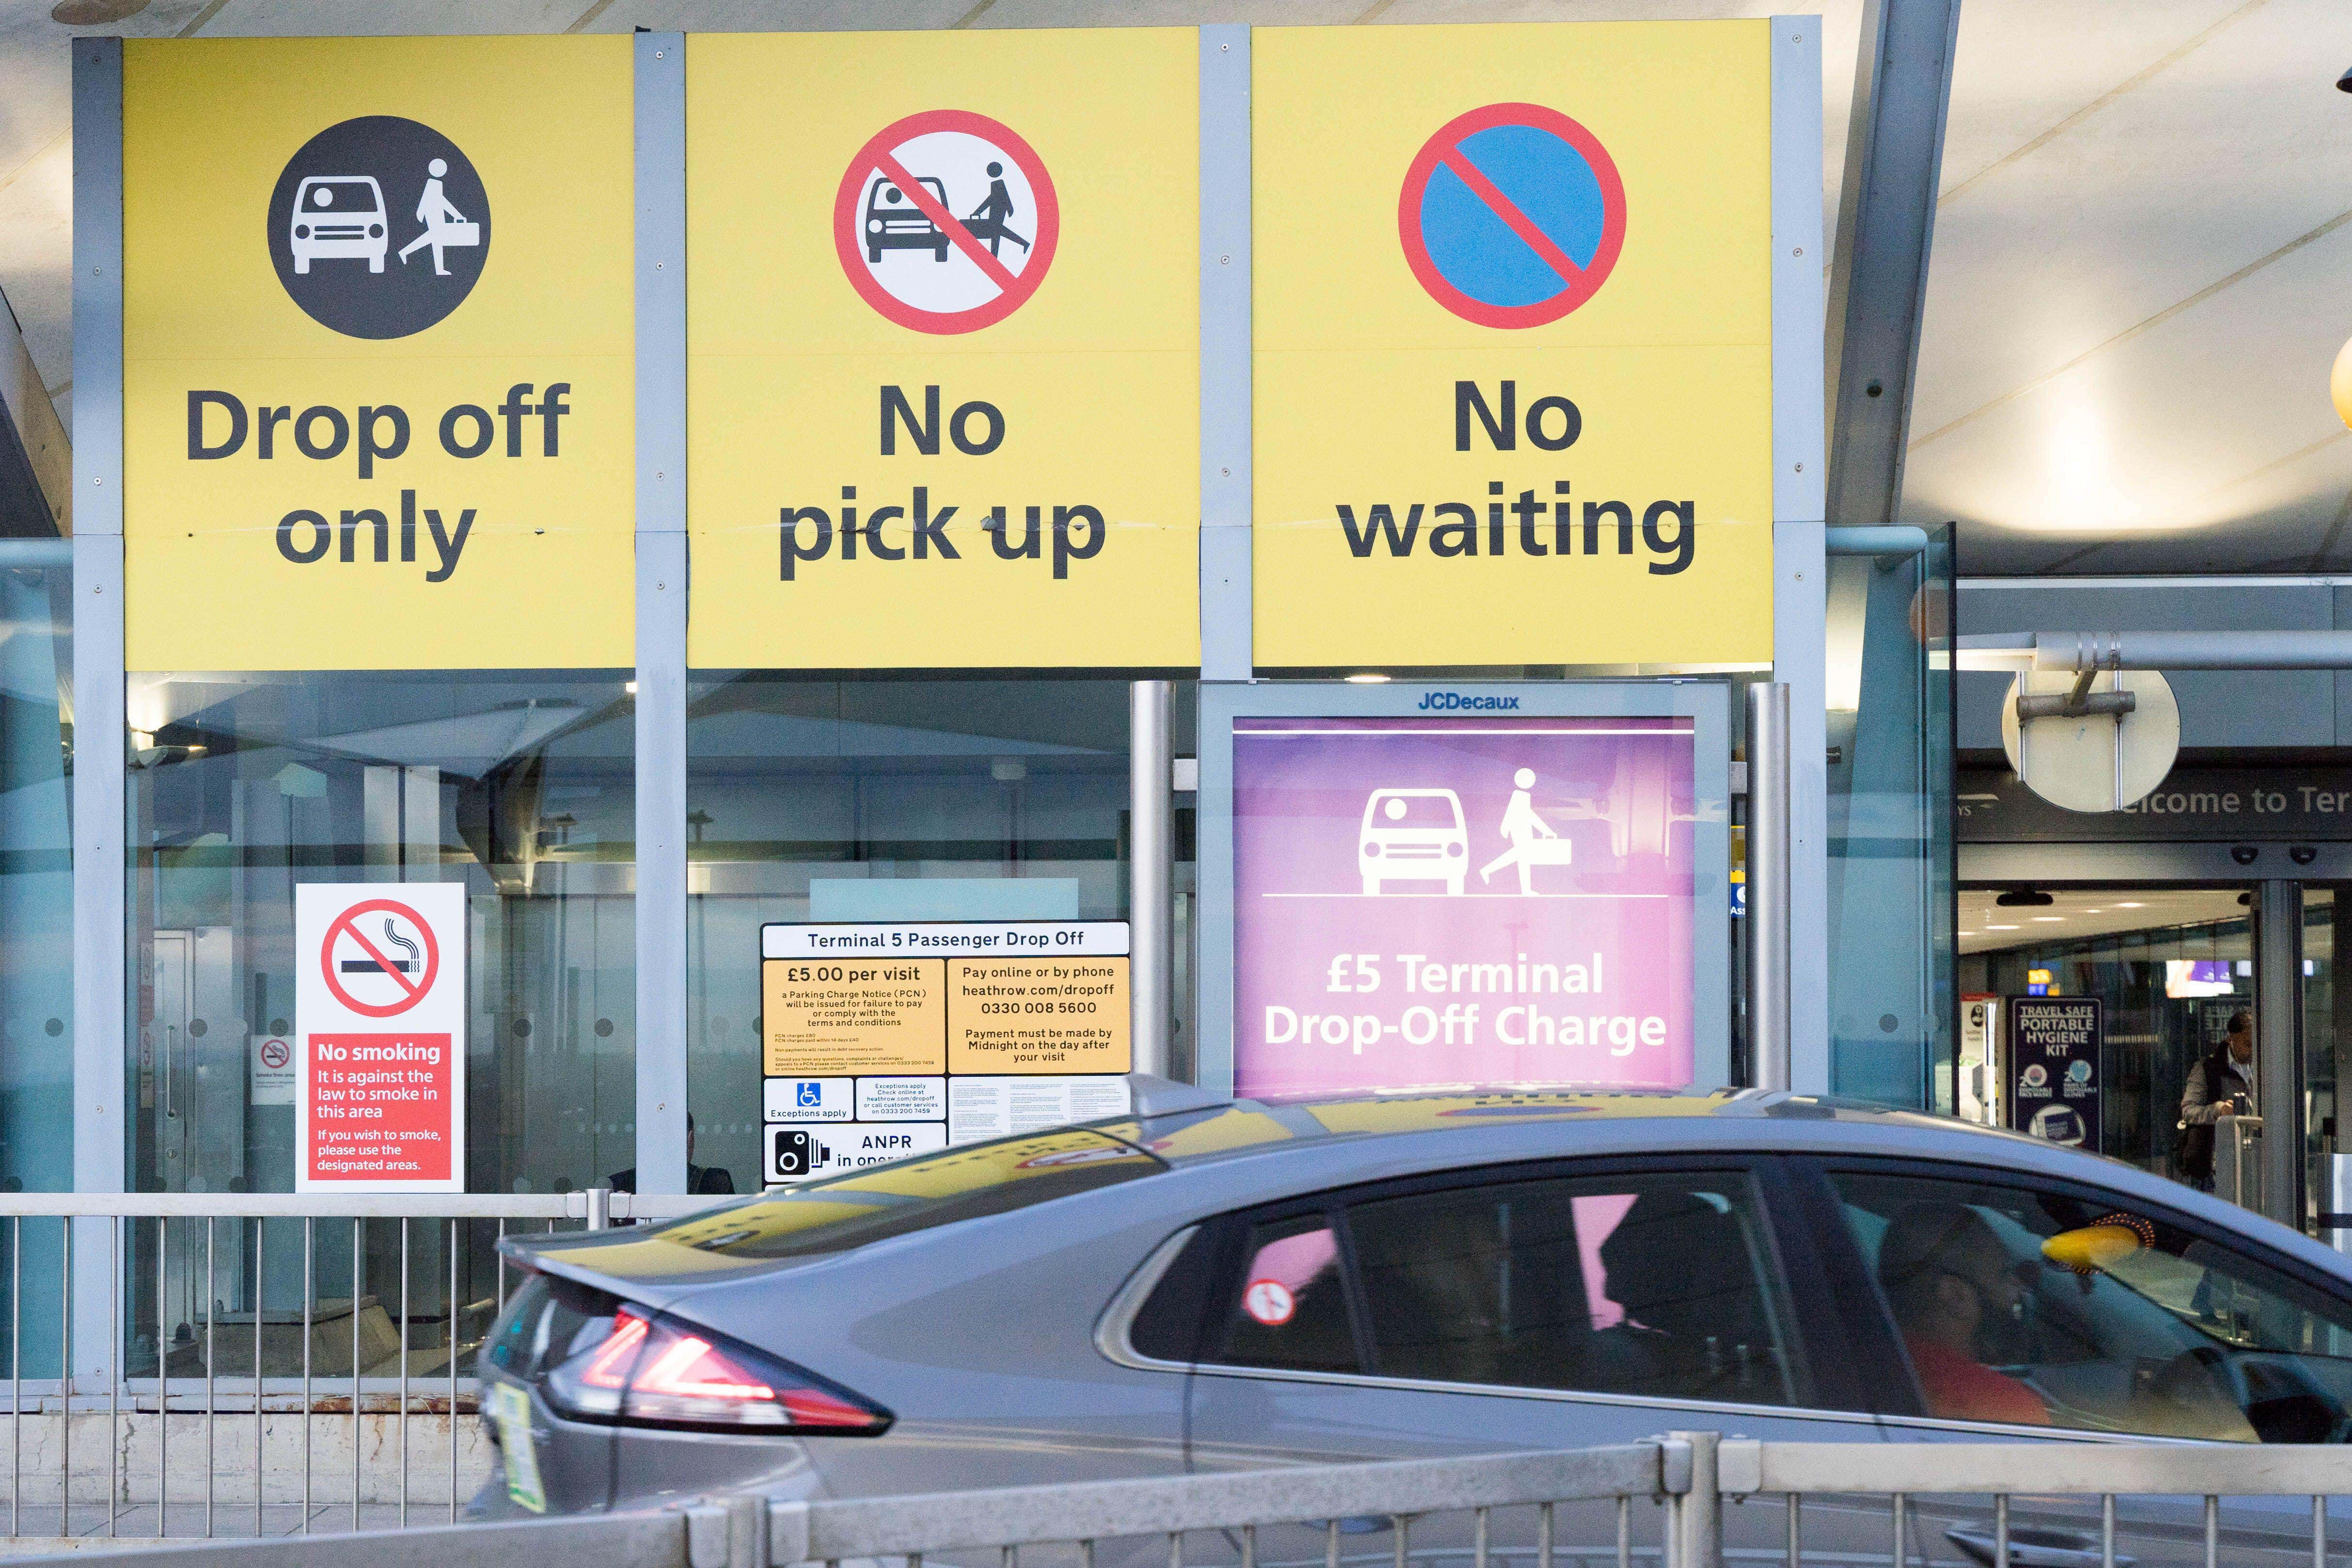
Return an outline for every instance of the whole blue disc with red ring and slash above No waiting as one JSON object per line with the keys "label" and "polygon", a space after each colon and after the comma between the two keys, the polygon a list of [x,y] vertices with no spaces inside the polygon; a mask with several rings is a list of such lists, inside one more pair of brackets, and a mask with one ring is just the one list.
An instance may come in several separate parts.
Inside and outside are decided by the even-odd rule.
{"label": "whole blue disc with red ring and slash above No waiting", "polygon": [[1446,120],[1404,172],[1397,240],[1439,306],[1541,327],[1592,299],[1625,249],[1625,181],[1599,136],[1541,103]]}

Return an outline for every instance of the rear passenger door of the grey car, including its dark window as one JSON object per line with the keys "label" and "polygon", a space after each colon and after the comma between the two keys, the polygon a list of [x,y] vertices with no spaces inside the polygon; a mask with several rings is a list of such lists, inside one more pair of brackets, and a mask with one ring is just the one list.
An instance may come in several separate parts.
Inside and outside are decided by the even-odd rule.
{"label": "rear passenger door of the grey car, including its dark window", "polygon": [[[1188,1248],[1211,1281],[1192,1465],[1581,1448],[1675,1427],[1877,1441],[1811,1246],[1769,1220],[1780,1180],[1771,1159],[1592,1159],[1228,1215]],[[1430,1521],[1411,1547],[1456,1552],[1437,1533],[1454,1526]],[[1498,1549],[1534,1544],[1531,1512],[1496,1530]],[[1562,1552],[1616,1547],[1602,1505],[1562,1509],[1557,1530]],[[1736,1509],[1726,1533],[1776,1542],[1778,1509]]]}

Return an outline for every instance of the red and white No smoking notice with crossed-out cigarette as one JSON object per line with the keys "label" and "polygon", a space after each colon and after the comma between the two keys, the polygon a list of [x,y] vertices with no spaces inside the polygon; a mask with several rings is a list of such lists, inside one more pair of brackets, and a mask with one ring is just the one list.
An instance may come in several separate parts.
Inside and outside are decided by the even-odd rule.
{"label": "red and white No smoking notice with crossed-out cigarette", "polygon": [[463,1192],[463,884],[294,889],[299,1192]]}

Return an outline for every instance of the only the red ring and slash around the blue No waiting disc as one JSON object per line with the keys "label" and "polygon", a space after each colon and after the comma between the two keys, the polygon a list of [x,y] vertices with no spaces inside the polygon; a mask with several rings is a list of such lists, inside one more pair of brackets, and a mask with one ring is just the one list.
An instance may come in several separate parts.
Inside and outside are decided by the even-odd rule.
{"label": "only the red ring and slash around the blue No waiting disc", "polygon": [[[1592,179],[1602,188],[1602,240],[1592,249],[1592,261],[1588,266],[1576,266],[1559,244],[1543,233],[1534,219],[1519,212],[1508,195],[1503,195],[1491,179],[1461,150],[1461,143],[1477,132],[1498,125],[1522,125],[1529,129],[1545,132],[1569,143],[1592,169]],[[1543,261],[1555,275],[1562,277],[1562,287],[1550,299],[1538,299],[1526,306],[1489,306],[1486,301],[1463,294],[1454,282],[1439,270],[1430,259],[1428,235],[1421,233],[1421,197],[1428,193],[1430,176],[1437,169],[1451,172],[1461,179],[1470,193],[1484,202],[1496,219],[1510,228],[1522,244],[1526,244],[1536,259]],[[1486,108],[1472,108],[1465,115],[1456,115],[1437,127],[1421,153],[1414,155],[1411,167],[1404,172],[1404,190],[1397,195],[1397,240],[1404,244],[1404,261],[1414,268],[1414,277],[1421,287],[1430,292],[1439,306],[1463,317],[1465,322],[1477,322],[1479,327],[1541,327],[1545,322],[1557,322],[1562,315],[1576,306],[1592,299],[1599,287],[1609,280],[1609,270],[1616,266],[1618,252],[1625,249],[1625,181],[1618,176],[1616,160],[1609,158],[1609,148],[1599,143],[1599,136],[1588,132],[1576,120],[1569,120],[1555,108],[1543,108],[1541,103],[1489,103]]]}

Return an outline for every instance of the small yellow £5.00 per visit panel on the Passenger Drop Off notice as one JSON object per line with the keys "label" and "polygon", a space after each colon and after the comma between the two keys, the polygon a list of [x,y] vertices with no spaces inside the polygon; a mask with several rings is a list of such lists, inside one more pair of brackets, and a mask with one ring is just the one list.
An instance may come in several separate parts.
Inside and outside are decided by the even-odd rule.
{"label": "small yellow \u00a35.00 per visit panel on the Passenger Drop Off notice", "polygon": [[762,959],[767,1077],[943,1072],[948,959]]}

